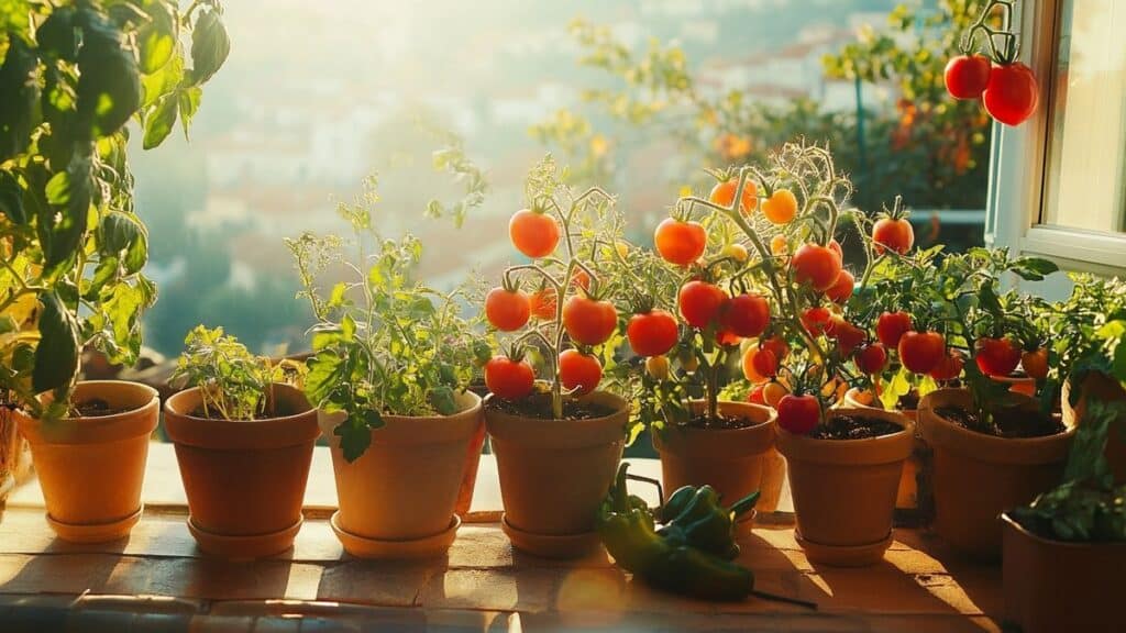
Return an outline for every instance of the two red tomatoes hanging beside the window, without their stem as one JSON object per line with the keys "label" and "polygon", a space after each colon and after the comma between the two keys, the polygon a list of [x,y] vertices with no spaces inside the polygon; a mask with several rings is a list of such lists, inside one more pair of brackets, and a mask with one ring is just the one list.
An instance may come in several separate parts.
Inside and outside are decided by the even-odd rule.
{"label": "two red tomatoes hanging beside the window, without their stem", "polygon": [[981,99],[985,112],[1006,125],[1036,113],[1039,84],[1020,62],[994,64],[986,55],[958,55],[946,64],[946,90],[955,99]]}

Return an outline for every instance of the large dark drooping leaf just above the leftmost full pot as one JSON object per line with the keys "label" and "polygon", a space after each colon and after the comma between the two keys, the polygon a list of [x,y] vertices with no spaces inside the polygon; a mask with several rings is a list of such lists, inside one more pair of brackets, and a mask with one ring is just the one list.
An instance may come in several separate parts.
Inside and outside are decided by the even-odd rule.
{"label": "large dark drooping leaf just above the leftmost full pot", "polygon": [[63,389],[78,376],[78,322],[54,292],[41,296],[39,344],[35,348],[32,389],[35,393]]}

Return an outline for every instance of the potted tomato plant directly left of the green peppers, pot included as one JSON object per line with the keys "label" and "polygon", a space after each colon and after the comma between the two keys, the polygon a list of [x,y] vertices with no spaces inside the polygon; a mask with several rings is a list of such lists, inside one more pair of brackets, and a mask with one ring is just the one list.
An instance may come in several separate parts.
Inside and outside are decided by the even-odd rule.
{"label": "potted tomato plant directly left of the green peppers, pot included", "polygon": [[[573,193],[549,157],[529,173],[526,196],[529,208],[512,216],[509,233],[531,261],[508,268],[485,298],[490,324],[513,332],[507,353],[484,367],[485,425],[504,533],[520,550],[570,558],[599,545],[596,515],[626,440],[626,401],[598,390],[618,315],[597,261],[614,250],[604,247],[615,243],[620,221],[608,194]],[[551,309],[531,319],[521,285],[548,288],[536,303]],[[535,356],[546,380],[536,380]]]}

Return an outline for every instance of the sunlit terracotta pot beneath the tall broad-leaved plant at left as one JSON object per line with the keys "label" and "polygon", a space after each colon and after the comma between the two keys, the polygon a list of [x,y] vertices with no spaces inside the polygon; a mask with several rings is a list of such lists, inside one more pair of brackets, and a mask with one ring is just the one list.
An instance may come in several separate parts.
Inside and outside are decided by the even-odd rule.
{"label": "sunlit terracotta pot beneath the tall broad-leaved plant at left", "polygon": [[47,523],[64,541],[98,543],[126,536],[141,518],[141,484],[157,428],[157,390],[120,381],[87,381],[72,402],[105,401],[100,417],[45,422],[14,411],[47,506]]}

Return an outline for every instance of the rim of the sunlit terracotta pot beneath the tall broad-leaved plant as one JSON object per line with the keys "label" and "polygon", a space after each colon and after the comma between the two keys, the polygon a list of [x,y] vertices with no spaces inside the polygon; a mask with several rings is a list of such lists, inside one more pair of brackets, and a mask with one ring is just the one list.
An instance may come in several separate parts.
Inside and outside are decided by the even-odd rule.
{"label": "rim of the sunlit terracotta pot beneath the tall broad-leaved plant", "polygon": [[[12,411],[12,418],[32,444],[101,444],[149,435],[157,429],[160,393],[149,385],[129,381],[82,381],[74,386],[74,398],[105,398],[107,389],[118,394],[132,392],[127,400],[133,402],[123,403],[131,408],[110,416],[61,418],[46,426],[20,409]],[[50,398],[50,394],[39,396],[41,401]]]}

